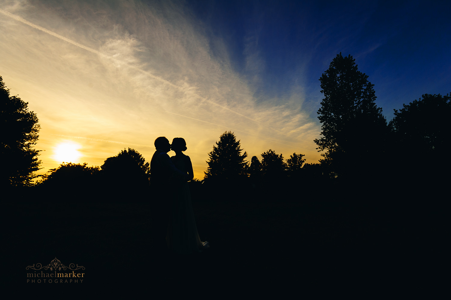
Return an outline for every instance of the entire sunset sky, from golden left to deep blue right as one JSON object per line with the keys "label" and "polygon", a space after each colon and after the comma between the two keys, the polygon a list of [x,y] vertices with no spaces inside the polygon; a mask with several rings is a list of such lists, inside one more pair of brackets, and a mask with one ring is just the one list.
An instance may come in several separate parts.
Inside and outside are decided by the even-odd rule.
{"label": "entire sunset sky, from golden left to deep blue right", "polygon": [[148,161],[166,136],[185,138],[201,179],[229,130],[248,159],[315,163],[318,79],[338,53],[369,76],[387,121],[451,92],[450,3],[2,0],[0,76],[38,115],[43,173],[127,147]]}

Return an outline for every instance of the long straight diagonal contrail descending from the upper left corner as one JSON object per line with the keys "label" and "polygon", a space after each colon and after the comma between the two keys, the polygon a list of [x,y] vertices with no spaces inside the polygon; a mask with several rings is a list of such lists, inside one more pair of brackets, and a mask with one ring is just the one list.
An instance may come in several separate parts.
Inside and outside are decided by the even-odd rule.
{"label": "long straight diagonal contrail descending from the upper left corner", "polygon": [[[167,85],[169,85],[169,86],[171,86],[171,87],[173,87],[173,88],[176,88],[176,89],[178,89],[179,91],[182,91],[182,92],[184,92],[184,93],[188,93],[188,92],[189,92],[189,91],[186,91],[186,89],[184,89],[184,88],[182,88],[182,87],[179,87],[179,86],[177,86],[177,85],[175,85],[175,84],[173,84],[173,83],[170,83],[169,81],[167,81],[167,80],[165,80],[165,79],[163,79],[163,78],[160,78],[160,77],[158,77],[158,76],[155,76],[155,75],[152,74],[152,73],[149,73],[149,72],[147,72],[147,71],[145,71],[145,70],[143,70],[143,69],[139,69],[138,67],[135,67],[135,66],[133,66],[133,65],[129,65],[128,63],[126,63],[126,62],[124,62],[124,61],[117,60],[117,59],[115,59],[114,57],[112,57],[112,56],[110,56],[110,55],[106,55],[106,54],[101,53],[101,52],[99,52],[99,51],[97,51],[97,50],[95,50],[95,49],[92,49],[92,48],[89,48],[89,47],[87,47],[87,46],[84,46],[84,45],[82,45],[82,44],[80,44],[80,43],[78,43],[78,42],[75,42],[75,41],[73,41],[73,40],[67,38],[67,37],[63,37],[62,35],[60,35],[60,34],[58,34],[58,33],[52,32],[52,31],[50,31],[50,30],[48,30],[48,29],[46,29],[46,28],[43,28],[43,27],[41,27],[41,26],[39,26],[39,25],[36,25],[36,24],[34,24],[34,23],[31,23],[31,22],[25,20],[24,18],[21,18],[21,17],[15,15],[15,14],[11,14],[11,13],[7,12],[7,11],[4,10],[4,9],[0,9],[0,13],[4,14],[4,15],[10,17],[10,18],[13,18],[14,20],[17,20],[17,21],[19,21],[19,22],[22,22],[22,23],[24,23],[24,24],[27,24],[28,26],[31,26],[32,28],[35,28],[35,29],[40,30],[40,31],[42,31],[42,32],[46,32],[46,33],[48,33],[48,34],[50,34],[50,35],[52,35],[52,36],[54,36],[54,37],[59,38],[60,40],[63,40],[63,41],[68,42],[68,43],[71,43],[71,44],[73,44],[73,45],[75,45],[75,46],[77,46],[77,47],[80,47],[80,48],[84,49],[84,50],[87,50],[87,51],[89,51],[89,52],[92,52],[92,53],[94,53],[94,54],[97,54],[97,55],[99,55],[99,56],[101,56],[101,57],[104,57],[104,58],[106,58],[106,59],[113,60],[113,61],[115,61],[115,62],[118,62],[118,63],[122,64],[122,65],[126,65],[126,66],[128,66],[129,68],[132,68],[132,69],[135,69],[135,70],[137,70],[137,71],[139,71],[139,72],[142,72],[143,74],[146,74],[147,76],[149,76],[149,77],[151,77],[151,78],[153,78],[153,79],[155,79],[155,80],[158,80],[158,81],[160,81],[161,83],[165,83],[165,84],[167,84]],[[196,93],[193,93],[193,95],[196,96],[196,97],[198,97],[199,99],[202,99],[202,100],[205,101],[205,102],[208,102],[208,103],[210,103],[210,104],[219,106],[219,107],[221,107],[222,109],[225,109],[225,110],[227,110],[227,111],[230,111],[230,112],[232,112],[232,113],[234,113],[234,114],[236,114],[236,115],[239,115],[239,116],[241,116],[241,117],[244,117],[244,118],[246,118],[246,119],[252,120],[252,121],[254,121],[254,122],[258,123],[258,124],[261,124],[261,125],[263,125],[263,126],[269,128],[269,129],[272,129],[272,130],[274,130],[274,131],[276,131],[276,132],[278,132],[278,133],[280,133],[280,134],[284,134],[284,133],[282,133],[281,131],[279,131],[279,130],[277,130],[277,129],[274,129],[274,128],[268,126],[268,125],[265,125],[265,124],[263,124],[262,122],[260,122],[260,121],[258,121],[258,120],[252,119],[252,118],[248,117],[247,115],[243,115],[243,114],[241,114],[241,113],[239,113],[239,112],[237,112],[237,111],[231,110],[230,108],[228,108],[228,107],[226,107],[226,106],[222,106],[221,104],[218,104],[218,103],[216,103],[216,102],[213,102],[213,101],[211,101],[211,100],[208,100],[208,99],[206,99],[206,98],[204,98],[204,97],[202,97],[202,96],[200,96],[200,95],[198,95],[198,94],[196,94]],[[284,134],[284,135],[285,135],[285,134]]]}

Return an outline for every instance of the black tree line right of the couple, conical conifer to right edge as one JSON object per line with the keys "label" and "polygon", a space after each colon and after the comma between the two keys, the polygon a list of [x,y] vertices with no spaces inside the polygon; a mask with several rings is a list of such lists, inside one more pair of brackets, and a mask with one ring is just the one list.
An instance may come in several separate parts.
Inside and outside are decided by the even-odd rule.
{"label": "black tree line right of the couple, conical conifer to right edge", "polygon": [[394,110],[387,123],[375,103],[374,84],[351,55],[336,55],[319,81],[324,95],[318,109],[322,132],[314,140],[322,152],[319,163],[304,164],[304,154],[296,153],[284,162],[282,154],[269,149],[261,161],[253,156],[249,165],[247,152],[241,154],[239,141],[229,131],[209,153],[206,180],[244,176],[262,185],[287,179],[415,185],[446,178],[450,94],[424,94]]}

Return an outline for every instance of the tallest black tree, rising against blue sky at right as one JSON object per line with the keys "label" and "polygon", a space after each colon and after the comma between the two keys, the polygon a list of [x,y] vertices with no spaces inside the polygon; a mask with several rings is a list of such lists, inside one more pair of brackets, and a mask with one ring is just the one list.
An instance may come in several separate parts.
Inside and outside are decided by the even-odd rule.
{"label": "tallest black tree, rising against blue sky at right", "polygon": [[351,55],[338,54],[319,78],[324,99],[318,110],[322,123],[315,139],[325,161],[337,174],[349,175],[370,157],[383,152],[387,121],[368,75],[361,73]]}

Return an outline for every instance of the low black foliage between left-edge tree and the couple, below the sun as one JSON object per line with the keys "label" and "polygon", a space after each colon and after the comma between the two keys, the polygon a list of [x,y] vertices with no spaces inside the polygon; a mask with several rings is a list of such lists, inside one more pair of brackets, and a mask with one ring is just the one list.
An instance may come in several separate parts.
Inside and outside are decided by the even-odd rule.
{"label": "low black foliage between left-edge tree and the couple, below the sun", "polygon": [[43,176],[37,189],[51,201],[140,202],[147,200],[149,170],[141,154],[129,148],[101,167],[63,162]]}

